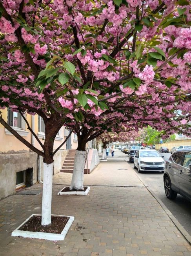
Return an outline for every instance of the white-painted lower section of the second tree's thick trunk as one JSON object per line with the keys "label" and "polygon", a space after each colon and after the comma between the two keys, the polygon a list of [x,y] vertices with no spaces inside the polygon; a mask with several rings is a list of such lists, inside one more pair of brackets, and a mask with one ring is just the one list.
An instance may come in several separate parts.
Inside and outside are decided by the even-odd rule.
{"label": "white-painted lower section of the second tree's thick trunk", "polygon": [[84,189],[84,166],[86,151],[76,150],[70,189]]}

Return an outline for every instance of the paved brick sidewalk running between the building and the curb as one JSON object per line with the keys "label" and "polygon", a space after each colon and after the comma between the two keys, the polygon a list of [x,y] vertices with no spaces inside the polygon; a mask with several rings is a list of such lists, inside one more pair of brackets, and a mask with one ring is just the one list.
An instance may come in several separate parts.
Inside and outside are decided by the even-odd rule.
{"label": "paved brick sidewalk running between the building and the curb", "polygon": [[[84,184],[91,185],[87,196],[58,196],[71,174],[54,176],[52,213],[75,217],[64,241],[11,237],[29,215],[41,212],[42,193],[1,200],[0,256],[191,256],[191,246],[124,154],[115,156],[85,175]],[[32,189],[42,191],[42,184]]]}

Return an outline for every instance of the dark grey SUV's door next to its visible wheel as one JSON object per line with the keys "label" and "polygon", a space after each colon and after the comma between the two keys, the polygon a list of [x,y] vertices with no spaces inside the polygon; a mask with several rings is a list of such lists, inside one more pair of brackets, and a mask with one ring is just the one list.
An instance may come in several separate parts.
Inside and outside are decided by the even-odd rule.
{"label": "dark grey SUV's door next to its visible wheel", "polygon": [[180,168],[182,168],[182,161],[184,152],[177,152],[172,155],[173,162],[167,165],[167,172],[170,175],[172,189],[179,192],[179,176]]}

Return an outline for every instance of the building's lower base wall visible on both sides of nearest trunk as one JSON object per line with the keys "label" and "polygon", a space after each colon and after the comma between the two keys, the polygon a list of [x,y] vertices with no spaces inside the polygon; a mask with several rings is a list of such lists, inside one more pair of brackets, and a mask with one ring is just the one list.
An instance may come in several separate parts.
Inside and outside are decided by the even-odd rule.
{"label": "building's lower base wall visible on both sides of nearest trunk", "polygon": [[[54,156],[54,174],[62,169],[68,150],[58,150]],[[41,168],[41,171],[40,171]],[[27,170],[28,169],[28,170]],[[0,154],[0,199],[16,193],[16,173],[27,170],[26,185],[43,180],[43,158],[36,153]],[[38,173],[39,172],[39,173]],[[31,176],[32,174],[32,176]]]}

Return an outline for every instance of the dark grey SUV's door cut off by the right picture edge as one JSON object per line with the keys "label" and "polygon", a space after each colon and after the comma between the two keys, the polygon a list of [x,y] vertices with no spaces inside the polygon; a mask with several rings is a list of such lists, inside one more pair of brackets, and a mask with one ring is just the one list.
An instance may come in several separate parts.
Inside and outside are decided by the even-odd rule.
{"label": "dark grey SUV's door cut off by the right picture edge", "polygon": [[179,175],[180,193],[191,199],[191,152],[186,152]]}

